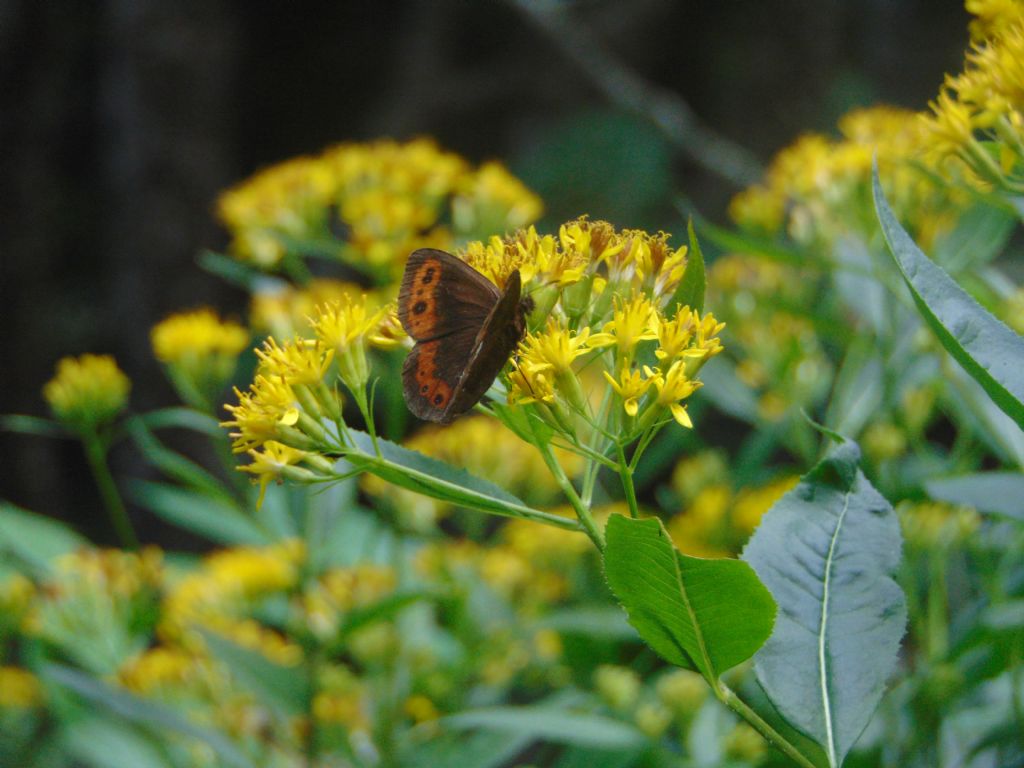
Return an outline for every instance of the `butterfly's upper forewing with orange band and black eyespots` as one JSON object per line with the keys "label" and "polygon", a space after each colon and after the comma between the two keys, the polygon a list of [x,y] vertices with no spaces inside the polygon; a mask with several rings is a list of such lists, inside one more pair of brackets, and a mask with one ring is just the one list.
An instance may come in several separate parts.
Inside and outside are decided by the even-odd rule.
{"label": "butterfly's upper forewing with orange band and black eyespots", "polygon": [[[421,248],[406,264],[398,290],[398,319],[415,341],[439,339],[483,327],[501,294],[466,262],[444,251]],[[466,354],[470,353],[466,349]]]}

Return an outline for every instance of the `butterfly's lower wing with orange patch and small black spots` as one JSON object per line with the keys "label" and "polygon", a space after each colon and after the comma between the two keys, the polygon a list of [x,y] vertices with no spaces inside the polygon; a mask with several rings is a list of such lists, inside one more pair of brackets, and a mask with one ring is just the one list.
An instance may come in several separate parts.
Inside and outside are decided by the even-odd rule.
{"label": "butterfly's lower wing with orange patch and small black spots", "polygon": [[469,365],[475,334],[458,331],[443,339],[421,341],[401,367],[406,404],[424,421],[443,421]]}

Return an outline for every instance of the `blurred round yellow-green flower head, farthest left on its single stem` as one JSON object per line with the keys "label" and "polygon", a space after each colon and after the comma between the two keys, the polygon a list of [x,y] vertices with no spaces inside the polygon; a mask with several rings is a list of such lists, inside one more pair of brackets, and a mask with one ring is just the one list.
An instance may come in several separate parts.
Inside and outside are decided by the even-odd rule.
{"label": "blurred round yellow-green flower head, farthest left on its single stem", "polygon": [[111,421],[128,401],[131,382],[109,354],[62,357],[56,376],[43,387],[53,415],[68,426],[93,430]]}

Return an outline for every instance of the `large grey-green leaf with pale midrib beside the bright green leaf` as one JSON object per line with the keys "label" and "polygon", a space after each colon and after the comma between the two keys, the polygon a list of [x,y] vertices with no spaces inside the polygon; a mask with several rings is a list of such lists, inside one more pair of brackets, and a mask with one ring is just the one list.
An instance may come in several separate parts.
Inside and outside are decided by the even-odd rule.
{"label": "large grey-green leaf with pale midrib beside the bright green leaf", "polygon": [[775,600],[758,680],[838,766],[867,725],[897,659],[906,602],[892,579],[900,532],[845,441],[762,518],[743,551]]}

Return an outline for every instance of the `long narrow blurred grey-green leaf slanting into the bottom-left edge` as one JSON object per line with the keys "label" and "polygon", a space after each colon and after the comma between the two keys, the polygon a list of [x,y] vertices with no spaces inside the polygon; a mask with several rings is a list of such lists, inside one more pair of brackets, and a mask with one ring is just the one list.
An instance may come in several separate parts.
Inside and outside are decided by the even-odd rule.
{"label": "long narrow blurred grey-green leaf slanting into the bottom-left edge", "polygon": [[163,705],[113,688],[71,667],[47,664],[42,668],[41,675],[45,680],[68,688],[86,701],[102,707],[129,722],[156,726],[205,741],[224,765],[254,768],[242,751],[223,733],[196,725]]}

